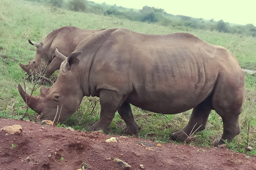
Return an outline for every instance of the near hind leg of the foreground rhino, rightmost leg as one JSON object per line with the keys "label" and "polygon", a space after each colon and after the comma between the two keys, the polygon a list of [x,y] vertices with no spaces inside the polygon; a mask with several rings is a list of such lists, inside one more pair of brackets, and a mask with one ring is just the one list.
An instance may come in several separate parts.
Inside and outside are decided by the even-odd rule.
{"label": "near hind leg of the foreground rhino, rightmost leg", "polygon": [[[223,122],[222,137],[219,142],[214,143],[214,146],[222,145],[225,141],[231,142],[241,132],[238,116],[242,112],[245,94],[244,73],[234,74],[235,76],[220,76],[214,90],[212,107]],[[238,75],[241,75],[241,78]]]}

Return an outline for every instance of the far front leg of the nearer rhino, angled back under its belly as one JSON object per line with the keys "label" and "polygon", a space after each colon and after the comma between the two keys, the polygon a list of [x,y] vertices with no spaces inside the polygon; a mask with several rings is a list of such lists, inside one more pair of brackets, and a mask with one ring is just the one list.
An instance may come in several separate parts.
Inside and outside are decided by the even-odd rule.
{"label": "far front leg of the nearer rhino, angled back under its belly", "polygon": [[130,103],[124,102],[123,105],[118,109],[118,113],[126,123],[126,127],[124,128],[123,132],[126,134],[138,134],[140,128],[134,121]]}

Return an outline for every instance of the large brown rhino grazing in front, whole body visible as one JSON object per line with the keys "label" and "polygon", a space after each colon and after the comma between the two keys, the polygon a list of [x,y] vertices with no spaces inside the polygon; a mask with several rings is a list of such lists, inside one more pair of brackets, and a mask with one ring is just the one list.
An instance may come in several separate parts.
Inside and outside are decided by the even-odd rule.
{"label": "large brown rhino grazing in front, whole body visible", "polygon": [[175,140],[204,130],[212,109],[223,121],[222,138],[216,145],[232,141],[241,131],[243,70],[227,49],[190,33],[147,35],[113,28],[85,38],[67,58],[58,49],[55,55],[65,61],[51,88],[41,87],[41,96],[30,98],[18,86],[23,100],[43,120],[57,116],[64,121],[84,96],[97,96],[100,119],[91,131],[107,131],[118,111],[126,123],[125,132],[137,133],[130,104],[161,114],[194,108],[188,125],[172,133]]}

